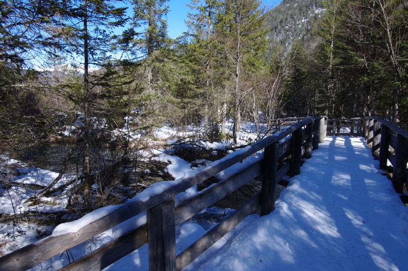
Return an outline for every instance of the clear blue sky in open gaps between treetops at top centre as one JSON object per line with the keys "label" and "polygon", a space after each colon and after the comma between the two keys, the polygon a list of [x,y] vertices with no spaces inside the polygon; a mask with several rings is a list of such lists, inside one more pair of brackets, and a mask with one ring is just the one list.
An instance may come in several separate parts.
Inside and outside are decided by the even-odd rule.
{"label": "clear blue sky in open gaps between treetops at top centre", "polygon": [[[262,0],[263,5],[266,8],[272,8],[282,0]],[[170,0],[167,2],[170,7],[170,12],[167,14],[168,33],[170,38],[177,38],[187,31],[185,20],[187,19],[187,13],[191,12],[187,7],[190,4],[190,0]]]}

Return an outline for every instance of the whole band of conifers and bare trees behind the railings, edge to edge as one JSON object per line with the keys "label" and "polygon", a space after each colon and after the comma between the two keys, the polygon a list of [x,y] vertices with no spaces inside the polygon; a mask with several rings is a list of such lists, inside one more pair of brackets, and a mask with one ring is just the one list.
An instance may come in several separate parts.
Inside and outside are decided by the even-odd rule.
{"label": "whole band of conifers and bare trees behind the railings, edge to edge", "polygon": [[[78,176],[69,204],[105,204],[140,170],[146,145],[126,128],[151,138],[165,123],[194,124],[207,139],[237,144],[248,120],[259,138],[289,116],[375,115],[406,127],[404,1],[310,1],[313,21],[295,23],[307,29],[287,45],[268,37],[284,14],[260,1],[192,0],[188,33],[177,39],[167,35],[166,3],[0,1],[0,148],[69,145],[61,174]],[[69,136],[64,125],[75,127]]]}

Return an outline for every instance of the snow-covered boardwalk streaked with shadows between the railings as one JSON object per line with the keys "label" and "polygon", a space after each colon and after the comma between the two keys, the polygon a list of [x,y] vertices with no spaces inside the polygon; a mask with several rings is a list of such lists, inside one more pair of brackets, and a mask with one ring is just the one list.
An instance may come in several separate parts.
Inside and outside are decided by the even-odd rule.
{"label": "snow-covered boardwalk streaked with shadows between the railings", "polygon": [[186,269],[408,270],[408,207],[364,139],[326,138],[312,155],[272,213]]}

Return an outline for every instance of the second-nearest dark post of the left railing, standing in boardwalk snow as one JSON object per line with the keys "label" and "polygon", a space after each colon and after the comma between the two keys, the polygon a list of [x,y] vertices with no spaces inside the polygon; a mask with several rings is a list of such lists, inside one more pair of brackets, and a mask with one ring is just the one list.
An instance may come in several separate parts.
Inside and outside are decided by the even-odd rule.
{"label": "second-nearest dark post of the left railing, standing in boardwalk snow", "polygon": [[275,187],[277,180],[277,163],[279,159],[279,142],[265,148],[262,168],[261,216],[275,209]]}

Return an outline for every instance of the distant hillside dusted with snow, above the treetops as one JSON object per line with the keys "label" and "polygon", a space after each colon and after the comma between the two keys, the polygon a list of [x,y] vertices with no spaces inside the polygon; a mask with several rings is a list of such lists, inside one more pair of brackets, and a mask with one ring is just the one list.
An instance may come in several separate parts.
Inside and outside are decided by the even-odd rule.
{"label": "distant hillside dusted with snow, above the treetops", "polygon": [[321,0],[283,0],[266,14],[271,48],[279,46],[286,52],[316,22],[323,11]]}

